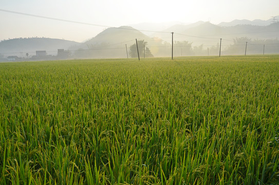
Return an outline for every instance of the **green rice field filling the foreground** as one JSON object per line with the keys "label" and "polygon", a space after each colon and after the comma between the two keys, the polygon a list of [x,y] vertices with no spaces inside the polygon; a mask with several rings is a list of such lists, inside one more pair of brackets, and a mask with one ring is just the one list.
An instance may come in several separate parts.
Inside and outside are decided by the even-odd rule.
{"label": "green rice field filling the foreground", "polygon": [[279,55],[0,63],[0,184],[279,184]]}

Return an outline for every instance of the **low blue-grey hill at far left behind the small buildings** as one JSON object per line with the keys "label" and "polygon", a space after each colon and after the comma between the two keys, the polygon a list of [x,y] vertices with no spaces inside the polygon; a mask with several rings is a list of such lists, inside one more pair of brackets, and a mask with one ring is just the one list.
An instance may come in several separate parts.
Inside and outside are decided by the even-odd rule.
{"label": "low blue-grey hill at far left behind the small buildings", "polygon": [[74,41],[50,38],[18,38],[4,40],[0,42],[0,54],[5,57],[16,55],[17,57],[25,57],[35,55],[36,50],[46,50],[47,54],[57,55],[58,49],[68,49],[70,46],[79,45]]}

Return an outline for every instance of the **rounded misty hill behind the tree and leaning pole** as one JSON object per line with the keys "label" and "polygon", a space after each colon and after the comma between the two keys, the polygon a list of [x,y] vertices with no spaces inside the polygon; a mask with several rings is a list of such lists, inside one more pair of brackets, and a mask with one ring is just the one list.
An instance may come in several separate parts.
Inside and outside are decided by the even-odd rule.
{"label": "rounded misty hill behind the tree and leaning pole", "polygon": [[150,49],[154,57],[169,56],[170,44],[162,39],[150,38],[141,31],[130,27],[107,28],[95,38],[79,45],[76,52],[77,58],[126,58],[126,46],[129,53],[130,46],[144,40],[145,47]]}

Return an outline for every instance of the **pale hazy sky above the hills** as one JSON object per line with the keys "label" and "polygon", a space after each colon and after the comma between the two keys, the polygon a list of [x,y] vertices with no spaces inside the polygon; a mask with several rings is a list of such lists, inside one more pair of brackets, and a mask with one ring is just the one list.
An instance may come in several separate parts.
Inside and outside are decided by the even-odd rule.
{"label": "pale hazy sky above the hills", "polygon": [[[63,20],[119,27],[142,22],[213,24],[235,19],[268,20],[279,14],[278,0],[0,0],[0,9]],[[104,27],[74,24],[0,11],[0,40],[47,37],[82,42]],[[279,17],[277,17],[279,18]]]}

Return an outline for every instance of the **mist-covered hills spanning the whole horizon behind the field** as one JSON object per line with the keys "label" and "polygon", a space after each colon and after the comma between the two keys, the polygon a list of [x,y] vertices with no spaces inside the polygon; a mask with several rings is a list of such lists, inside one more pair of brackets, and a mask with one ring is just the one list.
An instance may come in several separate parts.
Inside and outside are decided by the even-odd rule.
{"label": "mist-covered hills spanning the whole horizon behind the field", "polygon": [[[197,22],[194,24],[175,24],[160,31],[146,31],[150,24],[107,28],[83,43],[51,38],[17,38],[0,42],[2,60],[16,56],[15,60],[56,60],[58,49],[64,49],[60,59],[94,59],[94,58],[131,58],[135,57],[133,45],[136,39],[144,44],[138,46],[152,57],[175,57],[194,55],[243,55],[279,53],[277,39],[279,23],[268,21],[233,21],[231,23]],[[253,24],[262,24],[258,26]],[[268,24],[270,23],[270,24]],[[146,25],[146,26],[145,26]],[[154,28],[158,25],[154,26]],[[143,29],[141,29],[143,28]],[[145,29],[144,29],[145,28]],[[222,39],[222,40],[220,40]],[[246,46],[247,43],[247,46]],[[127,49],[126,49],[127,47]],[[40,58],[36,51],[44,50]],[[28,56],[27,56],[28,53]],[[144,53],[142,56],[144,58]]]}

